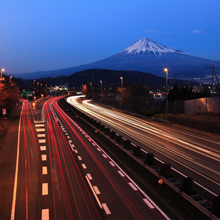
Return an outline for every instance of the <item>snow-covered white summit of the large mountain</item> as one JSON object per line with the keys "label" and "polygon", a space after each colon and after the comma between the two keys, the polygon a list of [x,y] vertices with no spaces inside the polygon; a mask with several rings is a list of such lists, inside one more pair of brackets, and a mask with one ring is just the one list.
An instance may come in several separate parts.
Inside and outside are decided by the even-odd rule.
{"label": "snow-covered white summit of the large mountain", "polygon": [[131,46],[124,49],[123,54],[142,54],[153,53],[155,56],[161,56],[162,53],[174,53],[175,50],[165,47],[162,44],[156,43],[149,38],[141,38]]}

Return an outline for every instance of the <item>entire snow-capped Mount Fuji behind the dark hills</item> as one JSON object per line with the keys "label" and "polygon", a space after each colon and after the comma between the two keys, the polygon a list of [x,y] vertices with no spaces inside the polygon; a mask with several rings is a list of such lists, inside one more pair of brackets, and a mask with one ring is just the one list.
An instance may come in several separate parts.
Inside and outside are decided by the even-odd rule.
{"label": "entire snow-capped Mount Fuji behind the dark hills", "polygon": [[94,63],[61,70],[16,74],[15,77],[33,79],[68,76],[86,69],[138,70],[164,76],[163,69],[167,67],[170,77],[177,74],[179,79],[205,82],[211,76],[211,72],[205,69],[208,64],[220,66],[220,60],[196,57],[181,50],[163,46],[151,39],[142,38],[121,52]]}

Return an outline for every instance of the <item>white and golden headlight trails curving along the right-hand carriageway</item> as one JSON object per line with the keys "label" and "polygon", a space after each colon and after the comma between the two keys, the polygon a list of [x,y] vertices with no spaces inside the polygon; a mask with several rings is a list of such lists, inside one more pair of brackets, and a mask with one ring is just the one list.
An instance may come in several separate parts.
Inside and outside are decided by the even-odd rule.
{"label": "white and golden headlight trails curving along the right-hand carriageway", "polygon": [[[218,141],[200,138],[192,134],[188,135],[186,132],[177,132],[172,128],[167,130],[163,125],[159,127],[159,125],[121,112],[92,105],[89,100],[83,101],[82,104],[77,102],[77,99],[82,97],[69,97],[67,102],[94,120],[147,145],[220,186],[218,168],[220,165],[220,143]],[[216,145],[216,148],[211,147],[211,144]],[[207,159],[201,160],[201,157]]]}

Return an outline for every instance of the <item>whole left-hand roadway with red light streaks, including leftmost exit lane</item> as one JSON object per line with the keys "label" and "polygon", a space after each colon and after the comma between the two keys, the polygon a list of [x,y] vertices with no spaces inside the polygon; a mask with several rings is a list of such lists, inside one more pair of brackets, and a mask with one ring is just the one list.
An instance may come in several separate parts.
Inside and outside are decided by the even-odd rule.
{"label": "whole left-hand roadway with red light streaks, including leftmost exit lane", "polygon": [[44,104],[42,121],[23,100],[0,219],[169,219],[57,99]]}

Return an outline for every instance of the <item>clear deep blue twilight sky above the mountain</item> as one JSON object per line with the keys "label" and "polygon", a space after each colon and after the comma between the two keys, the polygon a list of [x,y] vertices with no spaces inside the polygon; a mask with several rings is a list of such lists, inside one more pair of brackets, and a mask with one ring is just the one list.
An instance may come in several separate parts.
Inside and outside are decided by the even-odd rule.
{"label": "clear deep blue twilight sky above the mountain", "polygon": [[9,75],[88,64],[143,37],[220,60],[220,0],[1,0],[0,9]]}

